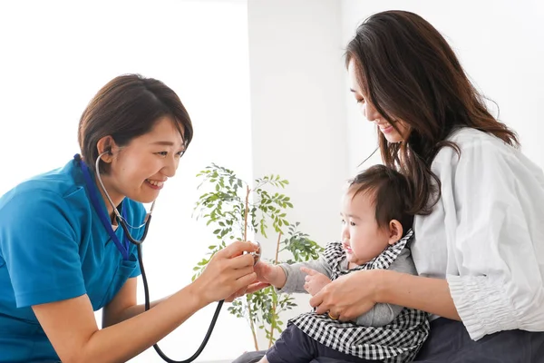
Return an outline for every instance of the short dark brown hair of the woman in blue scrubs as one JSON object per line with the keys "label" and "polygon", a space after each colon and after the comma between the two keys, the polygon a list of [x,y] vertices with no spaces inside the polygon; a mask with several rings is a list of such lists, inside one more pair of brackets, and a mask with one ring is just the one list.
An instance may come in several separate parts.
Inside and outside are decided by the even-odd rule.
{"label": "short dark brown hair of the woman in blue scrubs", "polygon": [[[119,146],[150,132],[164,116],[170,116],[183,137],[185,148],[192,139],[189,113],[180,97],[166,84],[140,74],[115,77],[96,93],[83,111],[78,129],[78,142],[83,160],[93,172],[98,158],[97,143],[112,136]],[[100,172],[107,172],[100,165]]]}

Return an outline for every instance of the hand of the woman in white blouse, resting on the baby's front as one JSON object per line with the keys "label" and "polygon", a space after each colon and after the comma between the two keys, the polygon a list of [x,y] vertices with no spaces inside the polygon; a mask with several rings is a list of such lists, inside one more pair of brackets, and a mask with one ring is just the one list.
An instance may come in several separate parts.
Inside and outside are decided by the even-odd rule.
{"label": "hand of the woman in white blouse, resting on the baby's front", "polygon": [[376,302],[380,270],[360,270],[327,284],[312,299],[310,305],[317,314],[329,312],[340,320],[355,320]]}

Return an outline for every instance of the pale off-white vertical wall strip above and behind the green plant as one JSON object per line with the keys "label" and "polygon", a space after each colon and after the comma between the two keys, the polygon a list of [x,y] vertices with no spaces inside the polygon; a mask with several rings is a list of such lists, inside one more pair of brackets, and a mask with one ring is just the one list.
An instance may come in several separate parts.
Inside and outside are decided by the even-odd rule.
{"label": "pale off-white vertical wall strip above and behind the green plant", "polygon": [[[300,230],[322,245],[338,239],[348,176],[339,5],[248,1],[253,172],[289,180],[295,209],[288,220],[300,221]],[[276,239],[266,241],[268,258]],[[310,309],[307,296],[297,301],[286,317]],[[263,341],[261,348],[267,348]],[[251,349],[251,341],[246,346]]]}

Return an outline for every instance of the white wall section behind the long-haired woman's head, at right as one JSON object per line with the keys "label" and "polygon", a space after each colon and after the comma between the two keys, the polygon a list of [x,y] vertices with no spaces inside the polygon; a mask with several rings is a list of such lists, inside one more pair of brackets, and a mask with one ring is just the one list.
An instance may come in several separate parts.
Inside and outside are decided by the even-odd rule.
{"label": "white wall section behind the long-haired woman's head, at right", "polygon": [[[544,167],[541,142],[544,3],[539,0],[343,0],[342,43],[347,44],[364,18],[393,9],[422,15],[444,35],[471,80],[499,104],[500,120],[519,133],[522,150]],[[353,96],[345,92],[345,97],[352,166],[374,151],[376,138],[374,127],[357,111]],[[372,159],[379,160],[379,156]]]}

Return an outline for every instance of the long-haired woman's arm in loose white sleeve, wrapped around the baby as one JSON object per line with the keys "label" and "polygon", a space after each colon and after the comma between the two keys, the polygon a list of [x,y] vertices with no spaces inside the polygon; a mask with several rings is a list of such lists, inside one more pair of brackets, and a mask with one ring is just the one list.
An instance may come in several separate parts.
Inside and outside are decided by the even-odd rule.
{"label": "long-haired woman's arm in loose white sleeve, wrapped around the baby", "polygon": [[[542,173],[497,143],[469,146],[456,168],[445,161],[438,170],[445,220],[435,227],[446,230],[446,240],[435,242],[448,243],[454,263],[446,280],[360,272],[316,295],[318,311],[337,304],[347,319],[389,302],[461,318],[474,340],[501,330],[544,331]],[[415,232],[416,239],[425,234]]]}

